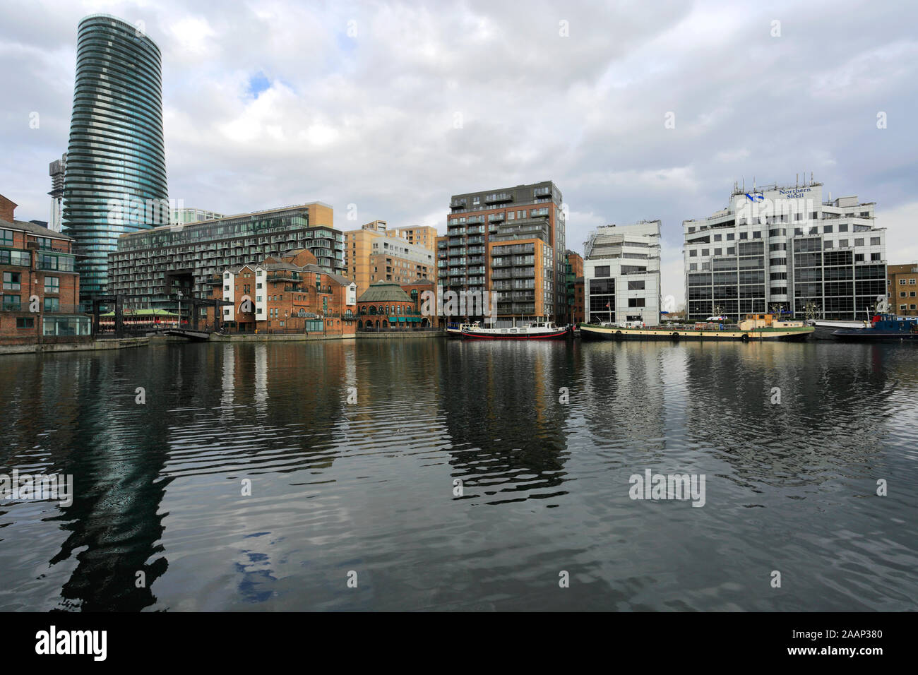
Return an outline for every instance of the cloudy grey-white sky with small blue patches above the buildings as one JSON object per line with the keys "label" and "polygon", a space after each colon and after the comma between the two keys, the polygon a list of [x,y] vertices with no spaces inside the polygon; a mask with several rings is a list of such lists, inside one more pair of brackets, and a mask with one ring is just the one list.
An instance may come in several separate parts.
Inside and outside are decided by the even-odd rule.
{"label": "cloudy grey-white sky with small blue patches above the buildings", "polygon": [[18,219],[48,219],[76,25],[96,12],[160,46],[169,193],[188,207],[320,200],[341,229],[444,231],[454,193],[551,179],[575,251],[598,225],[662,219],[681,302],[682,220],[734,180],[812,171],[877,202],[890,263],[918,260],[915,4],[3,0],[0,194]]}

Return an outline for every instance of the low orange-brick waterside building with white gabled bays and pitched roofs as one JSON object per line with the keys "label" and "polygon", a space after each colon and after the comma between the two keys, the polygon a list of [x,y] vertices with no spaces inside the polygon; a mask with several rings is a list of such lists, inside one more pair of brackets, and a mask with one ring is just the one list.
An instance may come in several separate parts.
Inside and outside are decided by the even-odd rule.
{"label": "low orange-brick waterside building with white gabled bays and pitched roofs", "polygon": [[[356,283],[319,266],[305,249],[230,267],[211,285],[211,298],[233,303],[216,310],[231,331],[353,335],[356,329]],[[215,309],[202,314],[213,325]]]}

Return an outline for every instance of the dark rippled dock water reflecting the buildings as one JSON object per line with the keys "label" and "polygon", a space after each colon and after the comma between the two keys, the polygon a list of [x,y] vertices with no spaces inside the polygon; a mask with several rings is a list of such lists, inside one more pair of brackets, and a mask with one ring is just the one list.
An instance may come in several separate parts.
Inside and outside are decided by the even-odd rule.
{"label": "dark rippled dock water reflecting the buildings", "polygon": [[0,501],[4,611],[918,609],[912,345],[168,344],[0,385],[0,470],[76,491]]}

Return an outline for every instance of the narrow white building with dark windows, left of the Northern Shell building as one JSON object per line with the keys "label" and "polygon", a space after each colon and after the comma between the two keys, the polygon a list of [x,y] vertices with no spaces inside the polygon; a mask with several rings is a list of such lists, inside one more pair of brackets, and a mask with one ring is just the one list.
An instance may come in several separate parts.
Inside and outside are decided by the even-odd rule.
{"label": "narrow white building with dark windows, left of the Northern Shell building", "polygon": [[660,322],[660,221],[606,225],[584,243],[588,323]]}

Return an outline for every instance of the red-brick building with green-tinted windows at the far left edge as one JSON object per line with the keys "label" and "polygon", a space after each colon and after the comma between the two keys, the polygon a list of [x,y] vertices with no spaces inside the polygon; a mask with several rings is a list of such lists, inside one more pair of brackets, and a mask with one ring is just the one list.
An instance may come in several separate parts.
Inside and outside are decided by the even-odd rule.
{"label": "red-brick building with green-tinted windows at the far left edge", "polygon": [[0,343],[90,335],[90,319],[79,313],[73,238],[15,219],[16,206],[0,195]]}

